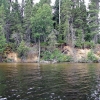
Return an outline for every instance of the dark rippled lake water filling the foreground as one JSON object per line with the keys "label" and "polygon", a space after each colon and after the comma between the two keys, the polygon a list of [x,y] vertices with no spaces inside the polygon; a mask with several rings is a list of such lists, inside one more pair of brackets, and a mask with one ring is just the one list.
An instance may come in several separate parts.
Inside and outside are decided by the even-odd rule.
{"label": "dark rippled lake water filling the foreground", "polygon": [[100,64],[0,64],[0,100],[100,100]]}

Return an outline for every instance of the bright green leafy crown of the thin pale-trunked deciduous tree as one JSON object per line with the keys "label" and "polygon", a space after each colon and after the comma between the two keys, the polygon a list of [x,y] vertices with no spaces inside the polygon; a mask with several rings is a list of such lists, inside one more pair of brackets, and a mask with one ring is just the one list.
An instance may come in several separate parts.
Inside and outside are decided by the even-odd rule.
{"label": "bright green leafy crown of the thin pale-trunked deciduous tree", "polygon": [[48,4],[38,8],[35,16],[31,18],[32,31],[35,33],[33,36],[46,37],[51,32],[53,27],[51,12],[51,7]]}

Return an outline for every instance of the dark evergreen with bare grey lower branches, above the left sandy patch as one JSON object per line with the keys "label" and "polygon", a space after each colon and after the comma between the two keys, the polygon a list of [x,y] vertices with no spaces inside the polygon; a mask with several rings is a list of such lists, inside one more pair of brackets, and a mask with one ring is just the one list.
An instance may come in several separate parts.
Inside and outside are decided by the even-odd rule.
{"label": "dark evergreen with bare grey lower branches, above the left sandy patch", "polygon": [[21,7],[18,4],[17,0],[16,2],[12,2],[12,11],[10,17],[12,38],[15,40],[15,44],[17,47],[23,38]]}

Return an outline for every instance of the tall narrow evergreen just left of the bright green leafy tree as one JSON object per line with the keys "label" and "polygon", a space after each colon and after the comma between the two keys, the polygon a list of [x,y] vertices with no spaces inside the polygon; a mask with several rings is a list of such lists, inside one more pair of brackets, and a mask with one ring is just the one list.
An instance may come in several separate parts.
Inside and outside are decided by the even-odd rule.
{"label": "tall narrow evergreen just left of the bright green leafy tree", "polygon": [[32,10],[33,10],[33,1],[32,0],[25,0],[25,9],[24,9],[24,30],[25,30],[25,40],[27,42],[31,42],[31,17],[32,17]]}

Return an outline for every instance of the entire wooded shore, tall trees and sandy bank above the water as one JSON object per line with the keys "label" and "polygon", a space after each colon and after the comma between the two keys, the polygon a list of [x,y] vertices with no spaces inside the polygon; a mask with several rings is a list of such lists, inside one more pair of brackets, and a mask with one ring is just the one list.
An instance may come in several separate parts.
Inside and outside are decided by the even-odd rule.
{"label": "entire wooded shore, tall trees and sandy bank above the water", "polygon": [[99,0],[1,0],[1,62],[99,62]]}

